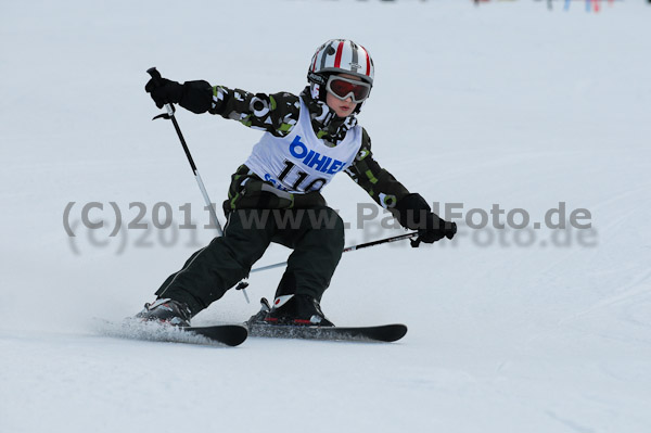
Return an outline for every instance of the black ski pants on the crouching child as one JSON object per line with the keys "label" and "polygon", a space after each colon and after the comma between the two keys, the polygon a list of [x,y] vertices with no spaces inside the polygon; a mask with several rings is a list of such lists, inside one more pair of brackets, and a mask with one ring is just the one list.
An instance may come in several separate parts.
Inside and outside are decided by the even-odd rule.
{"label": "black ski pants on the crouching child", "polygon": [[248,276],[271,242],[293,250],[276,295],[320,301],[344,249],[344,222],[327,206],[231,212],[224,237],[192,254],[156,295],[187,303],[194,316]]}

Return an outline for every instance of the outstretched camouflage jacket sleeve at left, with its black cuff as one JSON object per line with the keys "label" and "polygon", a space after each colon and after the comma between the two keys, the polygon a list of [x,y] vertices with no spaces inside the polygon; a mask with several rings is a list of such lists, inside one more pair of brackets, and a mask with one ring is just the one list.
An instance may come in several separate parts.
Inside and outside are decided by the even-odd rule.
{"label": "outstretched camouflage jacket sleeve at left, with its black cuff", "polygon": [[207,81],[186,81],[179,104],[196,114],[210,113],[240,122],[250,128],[284,137],[298,122],[301,102],[289,92],[251,93]]}

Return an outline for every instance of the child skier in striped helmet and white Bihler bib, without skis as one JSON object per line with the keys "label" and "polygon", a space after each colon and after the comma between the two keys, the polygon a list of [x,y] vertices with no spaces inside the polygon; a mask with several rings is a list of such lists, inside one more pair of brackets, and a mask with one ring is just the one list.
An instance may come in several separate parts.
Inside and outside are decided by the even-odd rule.
{"label": "child skier in striped helmet and white Bihler bib, without skis", "polygon": [[[371,153],[356,115],[373,86],[373,61],[361,46],[332,39],[314,54],[307,86],[292,93],[250,93],[203,80],[151,79],[145,90],[162,109],[175,103],[263,129],[253,152],[232,175],[224,211],[224,237],[194,253],[156,291],[157,301],[137,315],[143,320],[190,326],[190,319],[245,278],[271,242],[293,250],[273,306],[263,300],[255,316],[269,324],[333,326],[320,308],[344,247],[344,224],[327,206],[321,189],[345,171],[419,242],[452,239],[454,222],[431,212]],[[270,217],[273,213],[275,217]],[[265,216],[266,215],[266,216]],[[252,221],[254,221],[252,224]],[[293,224],[283,224],[293,221]],[[289,227],[291,226],[291,227]]]}

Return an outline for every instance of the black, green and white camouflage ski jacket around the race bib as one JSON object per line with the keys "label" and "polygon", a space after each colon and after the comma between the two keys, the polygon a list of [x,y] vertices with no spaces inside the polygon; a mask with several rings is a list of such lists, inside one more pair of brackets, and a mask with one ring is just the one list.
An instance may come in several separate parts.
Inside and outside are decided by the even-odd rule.
{"label": "black, green and white camouflage ski jacket around the race bib", "polygon": [[[186,97],[180,105],[194,113],[207,111],[276,137],[289,135],[298,122],[299,97],[292,93],[251,93],[224,86],[210,87],[206,81],[188,81],[184,87]],[[200,89],[203,94],[197,93]],[[208,91],[212,92],[209,104]],[[194,95],[191,97],[191,93]],[[330,122],[323,122],[324,116],[312,113],[318,110],[316,104],[322,103],[311,99],[308,88],[301,97],[310,110],[312,128],[317,137],[323,139],[329,145],[335,145],[341,138],[337,135],[341,136],[342,130],[345,135],[350,127],[350,118],[326,116]],[[353,120],[356,122],[355,118]],[[375,203],[391,211],[394,216],[398,216],[394,208],[401,199],[409,195],[409,191],[373,158],[371,139],[363,128],[360,151],[354,164],[345,171]],[[226,213],[238,208],[305,208],[326,205],[318,191],[306,194],[280,191],[263,181],[244,165],[233,174],[228,195],[229,199],[224,203]]]}

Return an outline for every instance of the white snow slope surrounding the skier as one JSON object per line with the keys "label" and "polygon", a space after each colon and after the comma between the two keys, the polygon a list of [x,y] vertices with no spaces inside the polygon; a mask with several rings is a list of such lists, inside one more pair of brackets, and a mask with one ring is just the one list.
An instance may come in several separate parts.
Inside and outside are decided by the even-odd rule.
{"label": "white snow slope surrounding the skier", "polygon": [[[3,2],[0,432],[651,431],[651,7],[602,5]],[[158,202],[175,225],[184,203],[200,225],[207,214],[171,125],[150,120],[145,69],[298,92],[332,37],[373,54],[360,122],[408,188],[465,211],[525,208],[532,222],[564,202],[589,209],[592,229],[540,229],[518,246],[532,231],[458,219],[454,243],[346,254],[323,309],[340,324],[406,322],[395,344],[101,335],[97,318],[138,311],[214,234],[151,229]],[[221,202],[259,132],[178,119]],[[348,244],[399,232],[355,228],[370,200],[346,176],[324,192],[353,225]],[[104,204],[90,212],[104,229],[79,222],[89,202]],[[111,238],[111,202],[125,224],[129,203],[145,204],[150,229]],[[286,255],[275,246],[259,264]],[[271,297],[281,273],[254,275],[250,296]],[[256,310],[231,291],[195,324]]]}

